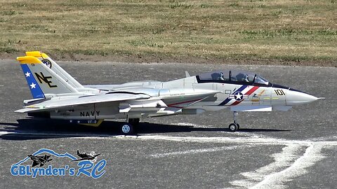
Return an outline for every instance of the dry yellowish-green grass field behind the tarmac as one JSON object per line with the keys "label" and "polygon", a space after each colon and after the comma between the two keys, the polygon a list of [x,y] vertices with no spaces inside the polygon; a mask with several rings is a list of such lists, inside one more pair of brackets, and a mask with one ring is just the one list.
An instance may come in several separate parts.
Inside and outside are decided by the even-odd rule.
{"label": "dry yellowish-green grass field behind the tarmac", "polygon": [[0,52],[337,60],[337,3],[2,1]]}

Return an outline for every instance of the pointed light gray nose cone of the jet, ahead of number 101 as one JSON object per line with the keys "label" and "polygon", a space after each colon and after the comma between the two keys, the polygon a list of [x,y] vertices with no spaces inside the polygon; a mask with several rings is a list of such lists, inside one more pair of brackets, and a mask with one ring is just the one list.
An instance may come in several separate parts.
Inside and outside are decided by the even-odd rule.
{"label": "pointed light gray nose cone of the jet, ahead of number 101", "polygon": [[288,90],[286,93],[286,105],[308,104],[316,101],[317,99],[319,98],[296,90]]}

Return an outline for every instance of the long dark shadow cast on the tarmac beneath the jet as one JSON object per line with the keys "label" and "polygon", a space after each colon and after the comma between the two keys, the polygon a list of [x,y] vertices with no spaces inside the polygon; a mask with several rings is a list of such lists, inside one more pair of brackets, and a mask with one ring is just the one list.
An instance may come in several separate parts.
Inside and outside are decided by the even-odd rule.
{"label": "long dark shadow cast on the tarmac beneath the jet", "polygon": [[[104,121],[100,127],[90,127],[69,123],[66,120],[33,120],[20,119],[18,123],[0,123],[5,126],[0,131],[13,132],[3,134],[0,139],[6,140],[32,140],[53,139],[67,137],[107,137],[107,135],[121,134],[119,131],[123,122]],[[291,130],[268,129],[241,129],[237,132],[289,132]],[[219,127],[193,127],[188,125],[165,125],[159,123],[139,123],[135,132],[141,134],[170,133],[170,132],[230,132]],[[40,133],[40,134],[39,134]]]}

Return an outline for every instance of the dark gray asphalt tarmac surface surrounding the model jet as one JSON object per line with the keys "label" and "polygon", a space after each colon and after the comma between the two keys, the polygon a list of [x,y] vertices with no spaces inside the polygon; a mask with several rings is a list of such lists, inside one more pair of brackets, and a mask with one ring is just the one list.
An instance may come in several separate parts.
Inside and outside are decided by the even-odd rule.
{"label": "dark gray asphalt tarmac surface surrounding the model jet", "polygon": [[[287,112],[148,118],[138,135],[118,135],[122,120],[84,127],[13,113],[30,99],[20,64],[0,61],[0,188],[336,188],[336,67],[59,62],[82,85],[172,80],[218,69],[253,71],[272,83],[325,97]],[[48,148],[102,153],[105,174],[12,176],[11,165]],[[30,161],[30,160],[29,160]],[[30,162],[27,161],[26,165]],[[53,157],[53,167],[76,164]]]}

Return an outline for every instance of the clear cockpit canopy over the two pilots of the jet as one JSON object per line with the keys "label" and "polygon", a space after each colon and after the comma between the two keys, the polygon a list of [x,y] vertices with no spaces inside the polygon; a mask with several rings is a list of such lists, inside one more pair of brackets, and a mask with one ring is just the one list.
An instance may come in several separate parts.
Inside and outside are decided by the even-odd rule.
{"label": "clear cockpit canopy over the two pilots of the jet", "polygon": [[263,85],[268,85],[269,82],[265,78],[251,73],[248,71],[213,71],[209,73],[201,73],[199,75],[200,80],[223,80],[237,83],[258,83]]}

